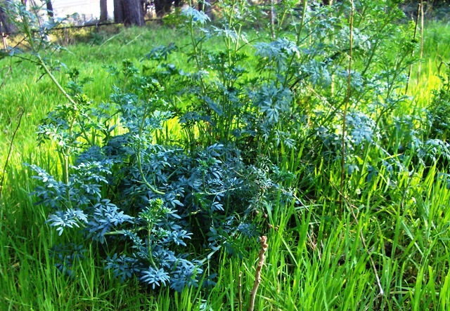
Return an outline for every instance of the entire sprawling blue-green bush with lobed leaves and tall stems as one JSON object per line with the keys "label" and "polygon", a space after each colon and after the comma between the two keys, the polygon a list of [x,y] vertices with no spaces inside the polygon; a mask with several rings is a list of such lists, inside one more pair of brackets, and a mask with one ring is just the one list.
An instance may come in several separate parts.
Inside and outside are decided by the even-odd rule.
{"label": "entire sprawling blue-green bush with lobed leaves and tall stems", "polygon": [[[448,92],[425,121],[391,115],[411,103],[404,71],[415,48],[409,39],[390,42],[397,4],[354,4],[364,14],[355,15],[351,69],[345,1],[280,6],[293,22],[272,25],[274,39],[252,46],[242,29],[257,14],[220,1],[221,27],[188,8],[177,20],[191,44],[153,48],[142,70],[129,60],[110,66],[120,79],[109,103],[92,105],[73,70],[75,100],[57,106],[38,130],[40,143],[56,145],[63,178],[30,166],[41,182],[35,195],[53,209],[47,223],[58,234],[77,230],[108,244],[105,267],[122,281],[181,291],[198,286],[203,264],[222,247],[245,256],[239,239],[263,230],[261,214],[300,206],[299,192],[321,192],[314,178],[319,166],[326,171],[323,163],[343,163],[342,176],[358,184],[382,175],[395,187],[397,173],[413,164],[449,160],[445,124],[433,137],[419,129],[444,117]],[[205,48],[215,37],[224,51]],[[246,67],[245,48],[255,53],[255,68]],[[392,49],[395,59],[387,57]],[[191,70],[170,62],[176,53],[188,55]],[[178,122],[179,135],[168,133],[169,121]]]}

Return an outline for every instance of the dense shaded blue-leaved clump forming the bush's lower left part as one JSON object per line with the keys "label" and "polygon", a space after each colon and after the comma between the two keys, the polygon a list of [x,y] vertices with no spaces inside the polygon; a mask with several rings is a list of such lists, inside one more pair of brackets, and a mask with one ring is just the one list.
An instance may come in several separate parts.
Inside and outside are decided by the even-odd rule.
{"label": "dense shaded blue-leaved clump forming the bush's lower left part", "polygon": [[[242,253],[233,239],[255,235],[257,228],[245,219],[255,209],[248,200],[262,190],[250,185],[250,167],[233,145],[186,152],[155,143],[172,117],[162,87],[129,61],[122,78],[109,107],[93,109],[77,95],[76,105],[58,106],[44,120],[40,141],[53,140],[61,159],[74,164],[66,183],[30,165],[41,182],[34,194],[53,209],[47,223],[58,234],[78,230],[86,239],[117,245],[105,258],[116,277],[136,276],[153,289],[198,286],[203,263],[217,249]],[[113,114],[123,128],[118,133],[108,125]],[[67,270],[69,264],[60,265]]]}

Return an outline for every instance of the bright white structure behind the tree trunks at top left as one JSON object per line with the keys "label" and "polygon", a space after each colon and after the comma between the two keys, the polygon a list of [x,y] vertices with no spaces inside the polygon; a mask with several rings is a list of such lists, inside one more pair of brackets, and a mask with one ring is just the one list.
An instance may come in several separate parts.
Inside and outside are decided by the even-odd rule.
{"label": "bright white structure behind the tree trunks at top left", "polygon": [[[108,18],[113,19],[113,0],[108,0]],[[89,22],[100,18],[100,0],[52,0],[53,13],[58,18],[65,18],[66,15],[78,14],[80,22]]]}

